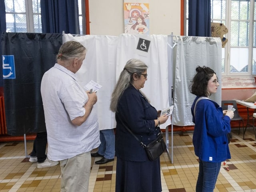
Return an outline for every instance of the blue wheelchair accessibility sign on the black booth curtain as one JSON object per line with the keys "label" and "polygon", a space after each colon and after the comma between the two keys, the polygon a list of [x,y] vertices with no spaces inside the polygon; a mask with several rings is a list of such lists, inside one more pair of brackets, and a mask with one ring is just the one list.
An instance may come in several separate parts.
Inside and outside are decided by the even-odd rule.
{"label": "blue wheelchair accessibility sign on the black booth curtain", "polygon": [[3,61],[3,78],[15,79],[15,66],[13,55],[2,55]]}

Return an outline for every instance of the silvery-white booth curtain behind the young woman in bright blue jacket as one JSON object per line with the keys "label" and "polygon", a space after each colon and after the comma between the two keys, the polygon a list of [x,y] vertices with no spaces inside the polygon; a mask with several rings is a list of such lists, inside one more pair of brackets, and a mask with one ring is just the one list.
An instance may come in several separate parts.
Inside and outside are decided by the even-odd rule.
{"label": "silvery-white booth curtain behind the young woman in bright blue jacket", "polygon": [[172,124],[194,125],[191,106],[196,96],[190,93],[189,86],[197,66],[208,66],[216,72],[220,86],[210,99],[221,104],[222,42],[220,38],[194,36],[174,36],[173,40],[177,45],[174,48],[176,55],[173,56],[175,82]]}

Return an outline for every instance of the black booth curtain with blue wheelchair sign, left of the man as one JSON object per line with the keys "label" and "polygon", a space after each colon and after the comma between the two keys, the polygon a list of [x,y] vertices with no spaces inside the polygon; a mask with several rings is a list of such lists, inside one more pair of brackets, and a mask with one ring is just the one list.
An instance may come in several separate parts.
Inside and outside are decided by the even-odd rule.
{"label": "black booth curtain with blue wheelchair sign, left of the man", "polygon": [[[7,134],[46,131],[40,93],[41,79],[54,66],[62,34],[5,33],[2,36],[4,104]],[[7,62],[7,58],[14,62]],[[10,60],[12,61],[12,60]]]}

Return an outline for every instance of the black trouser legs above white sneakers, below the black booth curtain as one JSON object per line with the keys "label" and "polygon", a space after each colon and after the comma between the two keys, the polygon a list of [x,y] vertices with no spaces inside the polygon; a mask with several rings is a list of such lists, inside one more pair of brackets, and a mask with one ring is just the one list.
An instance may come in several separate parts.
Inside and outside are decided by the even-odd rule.
{"label": "black trouser legs above white sneakers, below the black booth curtain", "polygon": [[[46,145],[47,145],[47,133],[46,132],[37,133],[36,139],[34,141],[34,149],[36,150],[38,163],[44,162],[44,160],[46,160],[46,154],[45,154]],[[31,153],[31,156],[33,154],[33,151]]]}

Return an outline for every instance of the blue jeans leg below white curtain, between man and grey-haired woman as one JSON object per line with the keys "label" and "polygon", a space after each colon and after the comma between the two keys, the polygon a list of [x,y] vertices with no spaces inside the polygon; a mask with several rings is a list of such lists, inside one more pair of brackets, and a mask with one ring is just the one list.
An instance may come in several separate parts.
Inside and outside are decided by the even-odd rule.
{"label": "blue jeans leg below white curtain, between man and grey-haired woman", "polygon": [[98,154],[104,155],[104,158],[113,159],[115,156],[114,129],[100,130],[100,142]]}

